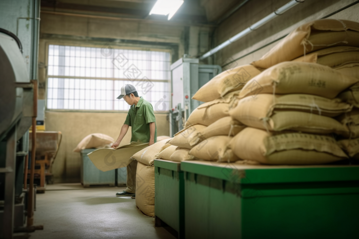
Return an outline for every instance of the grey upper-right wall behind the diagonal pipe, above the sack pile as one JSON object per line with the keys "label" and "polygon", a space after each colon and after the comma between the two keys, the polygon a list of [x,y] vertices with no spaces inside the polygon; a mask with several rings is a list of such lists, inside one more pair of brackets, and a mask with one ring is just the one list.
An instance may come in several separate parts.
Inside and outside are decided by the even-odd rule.
{"label": "grey upper-right wall behind the diagonal pipe, above the sack pile", "polygon": [[[215,30],[213,39],[215,45],[213,47],[241,32],[251,24],[256,23],[256,21],[262,19],[288,2],[289,0],[250,0]],[[327,16],[328,14],[354,2],[356,1],[306,0],[304,3],[298,4],[294,8],[288,10],[283,15],[274,18],[255,32],[249,33],[245,37],[235,41],[233,44],[216,53],[212,56],[212,60],[214,63],[224,67],[224,69],[248,64],[261,58],[277,44],[278,41],[275,41],[276,39],[290,33],[296,27],[307,23],[308,21]],[[331,15],[329,18],[347,19],[359,22],[358,13],[359,4],[355,4],[343,11]],[[243,57],[248,53],[251,54]],[[208,59],[206,59],[206,61],[207,60]],[[234,62],[227,64],[233,60]]]}

